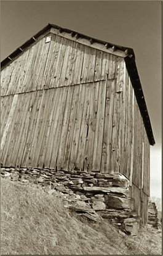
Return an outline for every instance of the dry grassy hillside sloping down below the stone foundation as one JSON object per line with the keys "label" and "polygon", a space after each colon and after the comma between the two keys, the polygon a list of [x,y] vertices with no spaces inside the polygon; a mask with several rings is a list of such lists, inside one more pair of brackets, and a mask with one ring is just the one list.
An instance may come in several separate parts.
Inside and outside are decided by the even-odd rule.
{"label": "dry grassy hillside sloping down below the stone foundation", "polygon": [[148,229],[126,236],[79,218],[58,194],[1,178],[1,254],[159,255],[161,231]]}

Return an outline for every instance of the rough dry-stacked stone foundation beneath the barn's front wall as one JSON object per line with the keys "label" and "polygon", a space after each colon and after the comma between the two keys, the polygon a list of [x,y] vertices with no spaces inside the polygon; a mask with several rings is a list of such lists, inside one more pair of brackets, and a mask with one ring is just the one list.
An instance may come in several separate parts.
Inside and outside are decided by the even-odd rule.
{"label": "rough dry-stacked stone foundation beneath the barn's front wall", "polygon": [[22,183],[33,182],[50,188],[49,194],[59,191],[66,207],[89,218],[105,218],[126,234],[137,234],[139,219],[129,197],[129,180],[124,175],[56,171],[36,168],[1,168],[1,176]]}

